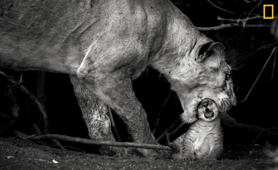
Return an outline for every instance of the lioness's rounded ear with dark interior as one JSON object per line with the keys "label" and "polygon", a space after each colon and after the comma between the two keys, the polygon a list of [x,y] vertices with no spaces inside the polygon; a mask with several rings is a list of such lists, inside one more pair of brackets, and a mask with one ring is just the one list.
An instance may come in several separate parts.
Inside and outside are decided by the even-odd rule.
{"label": "lioness's rounded ear with dark interior", "polygon": [[213,54],[213,52],[216,49],[225,49],[224,45],[222,43],[219,42],[209,42],[204,44],[200,51],[199,51],[199,55],[196,57],[196,61],[197,62],[202,62],[204,61],[204,59],[208,56],[210,56],[211,54]]}

